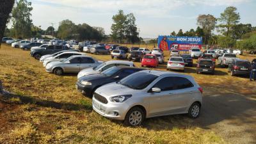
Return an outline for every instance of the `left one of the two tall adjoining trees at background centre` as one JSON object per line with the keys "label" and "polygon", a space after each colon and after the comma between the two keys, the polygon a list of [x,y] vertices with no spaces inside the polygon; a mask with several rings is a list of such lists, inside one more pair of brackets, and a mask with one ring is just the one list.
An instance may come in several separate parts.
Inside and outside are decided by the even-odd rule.
{"label": "left one of the two tall adjoining trees at background centre", "polygon": [[113,15],[112,19],[114,23],[111,26],[111,37],[113,40],[119,40],[120,42],[125,36],[126,15],[123,10],[119,10],[116,15]]}

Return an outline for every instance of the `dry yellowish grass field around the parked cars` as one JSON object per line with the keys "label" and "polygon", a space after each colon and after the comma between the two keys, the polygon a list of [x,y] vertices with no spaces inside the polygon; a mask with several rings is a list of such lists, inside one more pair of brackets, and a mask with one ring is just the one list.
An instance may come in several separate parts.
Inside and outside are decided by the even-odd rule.
{"label": "dry yellowish grass field around the parked cars", "polygon": [[[95,57],[110,59],[106,55]],[[165,68],[160,65],[157,69]],[[195,77],[206,95],[256,95],[252,91],[255,83],[248,83],[247,77],[231,77],[226,68],[216,68],[215,76],[195,74],[195,67],[186,68],[185,73]],[[149,118],[141,127],[125,127],[122,122],[108,120],[92,110],[90,98],[76,91],[76,75],[48,74],[28,51],[8,45],[0,49],[0,80],[5,90],[13,93],[0,96],[0,143],[229,142],[218,131],[204,129],[186,115]]]}

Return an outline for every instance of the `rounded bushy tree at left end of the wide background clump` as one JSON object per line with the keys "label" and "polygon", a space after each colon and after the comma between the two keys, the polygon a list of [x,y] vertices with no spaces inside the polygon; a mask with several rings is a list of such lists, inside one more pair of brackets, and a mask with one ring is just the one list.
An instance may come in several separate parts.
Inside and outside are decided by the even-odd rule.
{"label": "rounded bushy tree at left end of the wide background clump", "polygon": [[58,28],[58,37],[61,39],[72,39],[76,36],[76,24],[71,20],[63,20]]}

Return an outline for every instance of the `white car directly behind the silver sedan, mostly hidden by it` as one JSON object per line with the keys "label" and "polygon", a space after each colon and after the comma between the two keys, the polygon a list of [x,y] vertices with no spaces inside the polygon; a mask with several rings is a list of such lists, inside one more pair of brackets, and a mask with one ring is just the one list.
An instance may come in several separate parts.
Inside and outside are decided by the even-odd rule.
{"label": "white car directly behind the silver sedan, mostly hidden by it", "polygon": [[57,56],[45,58],[43,65],[45,67],[48,63],[51,63],[52,61],[61,61],[61,60],[65,60],[66,58],[69,58],[70,56],[77,56],[77,55],[85,56],[86,54],[82,52],[76,52],[76,51],[62,52]]}

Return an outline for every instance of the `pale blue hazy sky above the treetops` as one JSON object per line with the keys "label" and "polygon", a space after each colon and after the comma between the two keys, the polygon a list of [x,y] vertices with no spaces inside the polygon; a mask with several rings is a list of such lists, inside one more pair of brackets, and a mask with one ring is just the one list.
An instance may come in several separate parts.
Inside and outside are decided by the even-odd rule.
{"label": "pale blue hazy sky above the treetops", "polygon": [[256,0],[30,0],[33,24],[47,29],[61,20],[99,26],[111,33],[112,17],[118,10],[133,13],[143,38],[170,35],[172,31],[196,29],[196,17],[211,14],[220,17],[227,6],[236,6],[240,22],[256,26]]}

